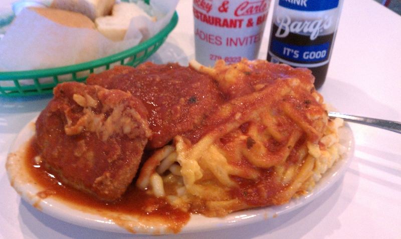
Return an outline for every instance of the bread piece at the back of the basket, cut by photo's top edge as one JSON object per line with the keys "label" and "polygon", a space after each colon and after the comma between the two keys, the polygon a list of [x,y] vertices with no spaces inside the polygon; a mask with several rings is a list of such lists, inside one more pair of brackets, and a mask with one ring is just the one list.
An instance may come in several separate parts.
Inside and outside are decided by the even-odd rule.
{"label": "bread piece at the back of the basket, cut by photo's top edge", "polygon": [[91,20],[110,14],[115,0],[53,0],[50,7],[80,12]]}

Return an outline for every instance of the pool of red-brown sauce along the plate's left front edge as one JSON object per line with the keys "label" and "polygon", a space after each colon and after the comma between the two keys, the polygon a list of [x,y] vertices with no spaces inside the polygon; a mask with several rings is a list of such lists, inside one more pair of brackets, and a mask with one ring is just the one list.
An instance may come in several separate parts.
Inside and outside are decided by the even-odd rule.
{"label": "pool of red-brown sauce along the plate's left front edge", "polygon": [[[38,153],[35,144],[33,137],[27,144],[24,162],[27,173],[43,188],[38,192],[38,196],[43,199],[52,197],[73,209],[103,216],[132,233],[139,232],[137,228],[140,228],[140,232],[149,228],[154,234],[178,233],[190,218],[188,212],[173,207],[164,198],[148,195],[133,183],[123,196],[114,202],[98,200],[92,195],[65,185],[57,180],[51,170],[36,162],[35,156]],[[164,229],[159,231],[154,228]]]}

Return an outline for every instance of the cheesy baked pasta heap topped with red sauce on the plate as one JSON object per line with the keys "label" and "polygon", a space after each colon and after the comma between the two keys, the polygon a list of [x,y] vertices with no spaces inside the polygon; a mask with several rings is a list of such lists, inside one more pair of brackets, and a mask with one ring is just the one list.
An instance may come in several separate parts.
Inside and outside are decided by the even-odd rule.
{"label": "cheesy baked pasta heap topped with red sauce on the plate", "polygon": [[306,194],[340,158],[342,120],[328,118],[307,69],[247,59],[190,65],[227,100],[156,150],[138,187],[189,212],[224,216]]}

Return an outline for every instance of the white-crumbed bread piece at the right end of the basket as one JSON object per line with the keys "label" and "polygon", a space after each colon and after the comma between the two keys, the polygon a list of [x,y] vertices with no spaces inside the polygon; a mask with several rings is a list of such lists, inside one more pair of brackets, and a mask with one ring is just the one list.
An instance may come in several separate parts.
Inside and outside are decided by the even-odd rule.
{"label": "white-crumbed bread piece at the right end of the basket", "polygon": [[120,2],[114,4],[111,15],[96,18],[95,24],[98,31],[104,36],[113,41],[120,41],[124,39],[131,18],[140,15],[149,20],[156,20],[155,17],[150,17],[135,3]]}

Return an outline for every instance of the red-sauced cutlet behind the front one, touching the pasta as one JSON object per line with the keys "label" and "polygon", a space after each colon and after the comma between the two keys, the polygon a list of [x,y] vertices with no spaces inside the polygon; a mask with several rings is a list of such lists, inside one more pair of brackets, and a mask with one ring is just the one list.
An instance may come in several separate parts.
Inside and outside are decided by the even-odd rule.
{"label": "red-sauced cutlet behind the front one, touching the pasta", "polygon": [[87,83],[129,91],[142,100],[153,133],[149,148],[161,147],[199,125],[223,100],[212,77],[177,63],[115,66],[89,75]]}

